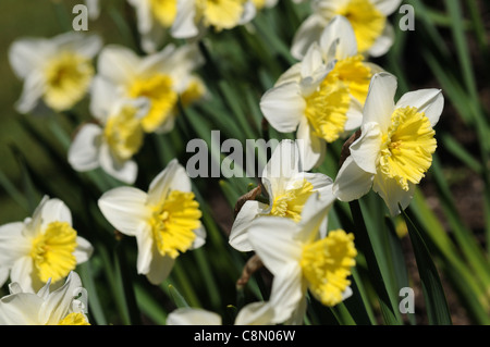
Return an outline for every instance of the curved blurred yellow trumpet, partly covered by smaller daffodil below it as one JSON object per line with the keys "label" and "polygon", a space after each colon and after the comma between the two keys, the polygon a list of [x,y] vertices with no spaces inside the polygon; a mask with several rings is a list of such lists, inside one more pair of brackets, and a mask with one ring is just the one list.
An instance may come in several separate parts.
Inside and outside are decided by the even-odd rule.
{"label": "curved blurred yellow trumpet, partly covered by smaller daffodil below it", "polygon": [[151,102],[148,114],[142,120],[143,128],[147,133],[161,126],[177,102],[177,94],[172,89],[172,78],[164,74],[137,78],[130,86],[128,94],[132,98],[146,97]]}

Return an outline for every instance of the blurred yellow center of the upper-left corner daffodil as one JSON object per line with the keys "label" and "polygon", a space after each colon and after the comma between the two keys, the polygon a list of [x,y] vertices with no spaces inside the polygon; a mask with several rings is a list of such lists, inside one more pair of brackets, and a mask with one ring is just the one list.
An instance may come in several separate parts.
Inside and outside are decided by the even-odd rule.
{"label": "blurred yellow center of the upper-left corner daffodil", "polygon": [[51,59],[45,76],[46,104],[63,111],[82,100],[94,76],[94,66],[90,59],[65,51]]}

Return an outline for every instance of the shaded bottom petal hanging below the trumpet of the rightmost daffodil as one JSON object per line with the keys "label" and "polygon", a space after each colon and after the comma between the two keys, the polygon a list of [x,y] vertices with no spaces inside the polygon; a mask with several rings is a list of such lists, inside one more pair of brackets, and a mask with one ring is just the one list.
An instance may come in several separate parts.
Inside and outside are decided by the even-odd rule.
{"label": "shaded bottom petal hanging below the trumpet of the rightmost daffodil", "polygon": [[395,179],[384,179],[381,175],[375,176],[372,190],[378,193],[387,203],[391,215],[400,214],[399,203],[405,209],[414,197],[415,185],[408,183],[408,191],[404,190]]}

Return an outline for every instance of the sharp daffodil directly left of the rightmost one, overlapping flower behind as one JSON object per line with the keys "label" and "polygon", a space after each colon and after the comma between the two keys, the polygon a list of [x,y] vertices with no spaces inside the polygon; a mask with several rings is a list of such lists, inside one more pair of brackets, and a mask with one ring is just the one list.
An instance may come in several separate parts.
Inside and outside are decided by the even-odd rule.
{"label": "sharp daffodil directly left of the rightmost one, overlapping flower behind", "polygon": [[272,127],[280,133],[296,132],[305,171],[321,163],[327,142],[360,125],[359,102],[346,83],[339,83],[335,65],[335,61],[323,60],[315,42],[303,61],[283,73],[260,100]]}

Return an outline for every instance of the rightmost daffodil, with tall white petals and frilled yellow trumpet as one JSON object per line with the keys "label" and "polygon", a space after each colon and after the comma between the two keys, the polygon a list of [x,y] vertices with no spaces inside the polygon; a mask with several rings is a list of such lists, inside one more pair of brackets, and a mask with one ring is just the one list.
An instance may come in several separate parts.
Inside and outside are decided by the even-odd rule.
{"label": "rightmost daffodil, with tall white petals and frilled yellow trumpet", "polygon": [[420,89],[403,95],[394,103],[396,77],[378,73],[372,77],[364,108],[360,136],[348,147],[333,193],[352,201],[371,187],[392,215],[412,200],[415,185],[432,163],[437,141],[433,126],[444,106],[440,89]]}

